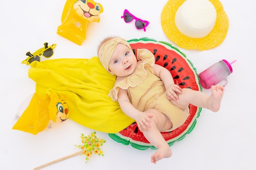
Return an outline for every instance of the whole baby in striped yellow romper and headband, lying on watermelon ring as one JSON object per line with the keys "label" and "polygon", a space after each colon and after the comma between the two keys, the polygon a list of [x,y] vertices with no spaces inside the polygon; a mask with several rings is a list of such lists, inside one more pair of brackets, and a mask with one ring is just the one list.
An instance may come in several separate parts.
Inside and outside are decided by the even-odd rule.
{"label": "whole baby in striped yellow romper and headband, lying on watermelon ring", "polygon": [[212,86],[210,96],[180,88],[166,68],[155,64],[150,51],[138,49],[136,58],[123,38],[103,40],[98,56],[103,67],[117,76],[109,96],[119,102],[126,115],[135,119],[139,130],[157,148],[151,156],[153,163],[171,157],[171,148],[160,132],[170,132],[182,126],[189,116],[189,104],[213,112],[220,109],[223,86]]}

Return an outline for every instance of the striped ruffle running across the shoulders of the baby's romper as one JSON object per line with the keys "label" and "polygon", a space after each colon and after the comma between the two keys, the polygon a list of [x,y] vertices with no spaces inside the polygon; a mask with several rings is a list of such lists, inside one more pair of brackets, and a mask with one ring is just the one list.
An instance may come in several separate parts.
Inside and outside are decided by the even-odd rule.
{"label": "striped ruffle running across the shoulders of the baby's romper", "polygon": [[131,75],[124,78],[110,90],[108,96],[116,102],[119,88],[128,89],[128,87],[135,87],[140,84],[147,75],[147,71],[154,72],[151,66],[155,64],[155,57],[148,49],[137,49],[137,59],[141,60],[141,64]]}

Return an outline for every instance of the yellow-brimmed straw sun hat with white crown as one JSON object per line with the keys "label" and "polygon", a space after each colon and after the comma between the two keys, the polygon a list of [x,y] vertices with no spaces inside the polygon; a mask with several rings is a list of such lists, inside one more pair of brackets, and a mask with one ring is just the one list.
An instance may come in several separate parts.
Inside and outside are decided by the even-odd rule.
{"label": "yellow-brimmed straw sun hat with white crown", "polygon": [[201,51],[220,45],[229,29],[229,19],[219,0],[168,0],[161,24],[175,44]]}

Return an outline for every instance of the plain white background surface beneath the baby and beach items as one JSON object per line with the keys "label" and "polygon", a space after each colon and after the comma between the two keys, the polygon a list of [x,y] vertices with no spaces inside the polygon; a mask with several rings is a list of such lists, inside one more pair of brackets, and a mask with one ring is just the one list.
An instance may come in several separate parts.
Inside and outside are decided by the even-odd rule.
{"label": "plain white background surface beneath the baby and beach items", "polygon": [[[101,22],[89,23],[87,38],[81,46],[56,34],[61,24],[65,0],[1,1],[0,56],[0,167],[2,170],[32,170],[40,165],[79,152],[81,133],[93,130],[72,120],[50,131],[31,135],[12,130],[13,118],[20,104],[35,92],[35,82],[28,78],[29,66],[20,64],[27,51],[36,51],[43,42],[56,43],[54,58],[90,58],[96,56],[99,42],[111,35],[126,39],[154,38],[175,45],[162,31],[160,15],[167,0],[101,0],[104,12]],[[225,59],[234,63],[229,75],[225,96],[218,113],[202,109],[194,130],[182,141],[171,146],[173,156],[156,165],[150,163],[155,150],[137,150],[124,146],[97,132],[106,140],[101,147],[104,157],[92,155],[72,157],[42,170],[255,170],[256,104],[255,39],[256,1],[221,0],[229,17],[229,31],[220,46],[207,51],[185,50],[198,73]],[[134,21],[126,24],[121,15],[124,9],[150,22],[137,30]],[[209,90],[203,90],[209,93]]]}

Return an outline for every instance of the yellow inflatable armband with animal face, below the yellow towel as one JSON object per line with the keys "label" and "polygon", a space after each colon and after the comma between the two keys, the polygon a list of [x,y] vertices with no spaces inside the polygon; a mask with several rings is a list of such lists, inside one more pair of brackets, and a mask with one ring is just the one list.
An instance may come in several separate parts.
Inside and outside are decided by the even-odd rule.
{"label": "yellow inflatable armband with animal face, below the yellow towel", "polygon": [[50,121],[61,123],[69,118],[68,105],[64,96],[59,98],[53,92],[49,95],[34,93],[29,105],[14,124],[14,130],[21,130],[36,135],[50,124]]}

